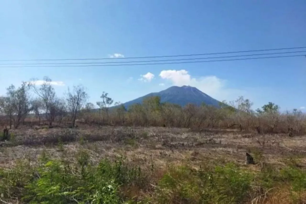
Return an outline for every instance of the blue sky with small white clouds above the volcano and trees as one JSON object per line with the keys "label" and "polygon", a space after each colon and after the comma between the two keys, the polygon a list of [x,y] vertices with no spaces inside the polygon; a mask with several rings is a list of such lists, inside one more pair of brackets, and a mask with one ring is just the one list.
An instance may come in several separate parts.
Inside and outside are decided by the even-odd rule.
{"label": "blue sky with small white clouds above the volcano and trees", "polygon": [[[65,59],[184,55],[306,46],[306,1],[0,0],[0,58]],[[3,63],[3,62],[1,62]],[[151,74],[147,74],[147,73]],[[146,75],[147,74],[147,75]],[[153,77],[153,75],[154,77]],[[0,95],[49,76],[59,96],[83,84],[126,102],[172,85],[254,108],[306,106],[306,58],[120,67],[0,68]],[[145,78],[147,77],[147,78]],[[143,80],[139,80],[142,78]]]}

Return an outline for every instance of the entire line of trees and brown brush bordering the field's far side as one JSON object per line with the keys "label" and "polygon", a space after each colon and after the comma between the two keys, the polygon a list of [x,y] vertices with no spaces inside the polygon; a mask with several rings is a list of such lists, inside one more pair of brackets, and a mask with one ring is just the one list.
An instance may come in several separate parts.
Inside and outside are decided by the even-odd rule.
{"label": "entire line of trees and brown brush bordering the field's far side", "polygon": [[[18,128],[29,115],[35,115],[38,125],[47,121],[61,124],[69,120],[72,127],[76,121],[88,125],[113,126],[164,126],[186,128],[239,128],[256,130],[258,133],[304,134],[306,116],[300,110],[293,109],[281,113],[279,106],[269,102],[262,108],[253,110],[253,103],[240,96],[237,100],[220,103],[220,108],[202,104],[162,103],[160,97],[153,96],[141,104],[133,104],[126,109],[115,102],[108,93],[103,92],[101,101],[88,103],[88,93],[84,86],[73,86],[65,97],[59,98],[51,79],[44,77],[42,85],[23,82],[18,88],[11,85],[6,96],[0,97],[0,123]],[[31,93],[35,93],[34,96]],[[114,105],[114,107],[111,107]]]}

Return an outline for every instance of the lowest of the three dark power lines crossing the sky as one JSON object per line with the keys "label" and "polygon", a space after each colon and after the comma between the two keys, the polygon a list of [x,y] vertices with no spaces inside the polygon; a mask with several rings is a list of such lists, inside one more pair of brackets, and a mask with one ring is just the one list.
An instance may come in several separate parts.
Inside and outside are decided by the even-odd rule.
{"label": "lowest of the three dark power lines crossing the sky", "polygon": [[282,57],[298,57],[305,55],[285,55],[285,56],[270,56],[270,57],[257,57],[257,58],[241,58],[241,59],[221,59],[221,60],[207,60],[207,61],[192,61],[192,62],[163,62],[163,63],[145,63],[145,64],[110,64],[110,65],[57,65],[57,66],[0,66],[0,67],[90,67],[90,66],[136,66],[136,65],[159,65],[159,64],[185,64],[185,63],[200,63],[200,62],[222,62],[222,61],[235,61],[235,60],[249,60],[249,59],[269,59],[269,58],[282,58]]}

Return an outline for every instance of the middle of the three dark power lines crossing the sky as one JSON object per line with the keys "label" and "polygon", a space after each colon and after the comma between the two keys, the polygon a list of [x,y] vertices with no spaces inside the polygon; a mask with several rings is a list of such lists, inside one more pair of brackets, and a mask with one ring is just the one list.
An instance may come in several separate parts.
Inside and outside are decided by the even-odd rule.
{"label": "middle of the three dark power lines crossing the sky", "polygon": [[[137,63],[137,62],[167,62],[167,61],[182,61],[182,60],[197,60],[197,59],[218,59],[218,58],[229,58],[229,57],[246,57],[246,56],[257,56],[257,55],[276,55],[276,54],[289,54],[299,53],[305,51],[293,51],[293,52],[274,52],[274,53],[260,53],[252,55],[232,55],[232,56],[218,56],[218,57],[205,57],[205,58],[189,58],[189,59],[163,59],[163,60],[147,60],[147,61],[124,61],[124,62],[65,62],[65,63],[9,63],[1,65],[65,65],[65,64],[122,64],[122,63]],[[305,53],[306,54],[306,53]]]}

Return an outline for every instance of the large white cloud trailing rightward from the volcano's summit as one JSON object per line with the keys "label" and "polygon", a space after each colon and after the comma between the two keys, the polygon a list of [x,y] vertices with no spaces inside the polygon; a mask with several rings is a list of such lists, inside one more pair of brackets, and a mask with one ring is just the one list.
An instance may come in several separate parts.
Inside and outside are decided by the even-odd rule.
{"label": "large white cloud trailing rightward from the volcano's summit", "polygon": [[234,100],[238,96],[247,95],[244,90],[227,88],[227,81],[216,76],[195,78],[188,74],[187,70],[162,70],[159,76],[171,81],[176,86],[189,85],[196,87],[217,100]]}

